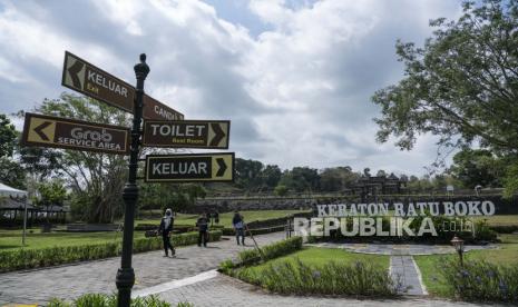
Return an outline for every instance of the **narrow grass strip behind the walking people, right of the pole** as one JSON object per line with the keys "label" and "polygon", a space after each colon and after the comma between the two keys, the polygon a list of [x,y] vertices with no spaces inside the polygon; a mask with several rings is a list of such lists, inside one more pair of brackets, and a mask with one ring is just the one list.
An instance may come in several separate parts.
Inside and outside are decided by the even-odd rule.
{"label": "narrow grass strip behind the walking people, right of the pole", "polygon": [[[240,211],[240,214],[245,218],[245,221],[247,222],[255,221],[255,220],[281,218],[281,217],[285,217],[285,216],[293,215],[296,212],[301,212],[301,210]],[[198,217],[199,217],[198,215],[178,214],[176,216],[175,224],[194,226]],[[232,227],[232,217],[234,217],[234,212],[219,214],[219,225],[223,225],[225,227]],[[140,219],[140,220],[136,220],[135,222],[136,225],[138,224],[158,225],[160,220],[159,219]]]}

